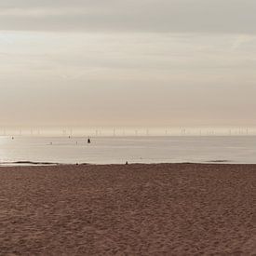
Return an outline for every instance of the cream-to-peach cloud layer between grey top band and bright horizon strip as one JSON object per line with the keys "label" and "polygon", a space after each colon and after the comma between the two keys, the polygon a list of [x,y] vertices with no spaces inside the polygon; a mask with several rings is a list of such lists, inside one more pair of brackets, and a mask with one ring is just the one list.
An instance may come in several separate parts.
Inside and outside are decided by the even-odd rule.
{"label": "cream-to-peach cloud layer between grey top band and bright horizon strip", "polygon": [[255,45],[236,34],[2,33],[2,122],[255,124]]}

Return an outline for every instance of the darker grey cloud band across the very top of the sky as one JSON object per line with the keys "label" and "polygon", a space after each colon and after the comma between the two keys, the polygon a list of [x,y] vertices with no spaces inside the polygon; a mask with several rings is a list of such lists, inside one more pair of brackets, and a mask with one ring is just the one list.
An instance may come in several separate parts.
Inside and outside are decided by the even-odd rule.
{"label": "darker grey cloud band across the very top of the sky", "polygon": [[255,34],[254,0],[5,1],[0,30]]}

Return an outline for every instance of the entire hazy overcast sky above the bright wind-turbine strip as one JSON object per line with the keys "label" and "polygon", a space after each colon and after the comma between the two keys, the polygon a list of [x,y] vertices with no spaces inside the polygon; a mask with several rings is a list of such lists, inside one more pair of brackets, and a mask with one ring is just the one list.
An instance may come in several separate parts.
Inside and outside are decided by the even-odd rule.
{"label": "entire hazy overcast sky above the bright wind-turbine strip", "polygon": [[255,0],[0,2],[0,126],[256,125]]}

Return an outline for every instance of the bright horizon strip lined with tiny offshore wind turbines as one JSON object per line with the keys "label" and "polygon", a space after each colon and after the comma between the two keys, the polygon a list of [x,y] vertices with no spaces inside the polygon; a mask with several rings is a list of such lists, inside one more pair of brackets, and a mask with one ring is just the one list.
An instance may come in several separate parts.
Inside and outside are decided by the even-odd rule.
{"label": "bright horizon strip lined with tiny offshore wind turbines", "polygon": [[126,136],[256,136],[251,127],[0,127],[0,136],[126,137]]}

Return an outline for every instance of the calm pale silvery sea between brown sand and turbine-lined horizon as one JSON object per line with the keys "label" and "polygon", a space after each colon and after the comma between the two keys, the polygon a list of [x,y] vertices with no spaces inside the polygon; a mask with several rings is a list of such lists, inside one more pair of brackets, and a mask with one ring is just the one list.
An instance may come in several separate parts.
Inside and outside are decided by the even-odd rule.
{"label": "calm pale silvery sea between brown sand and turbine-lined horizon", "polygon": [[[0,163],[52,162],[256,164],[256,137],[0,137]],[[21,165],[21,163],[20,163]]]}

